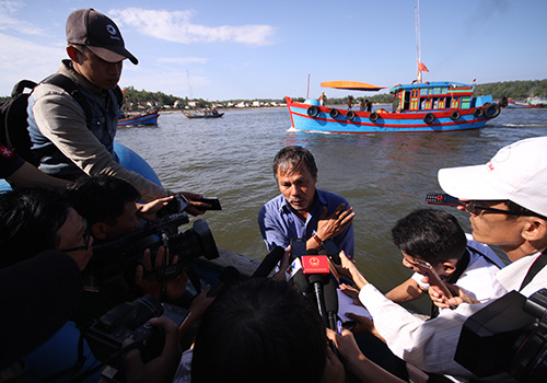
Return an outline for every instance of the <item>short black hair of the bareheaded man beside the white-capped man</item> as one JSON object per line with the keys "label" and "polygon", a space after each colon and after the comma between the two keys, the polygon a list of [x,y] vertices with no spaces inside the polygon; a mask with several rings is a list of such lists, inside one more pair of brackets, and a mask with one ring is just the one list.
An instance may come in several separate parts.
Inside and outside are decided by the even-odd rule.
{"label": "short black hair of the bareheaded man beside the white-capped man", "polygon": [[406,254],[437,266],[462,258],[467,246],[456,218],[439,209],[415,210],[392,229],[393,242]]}

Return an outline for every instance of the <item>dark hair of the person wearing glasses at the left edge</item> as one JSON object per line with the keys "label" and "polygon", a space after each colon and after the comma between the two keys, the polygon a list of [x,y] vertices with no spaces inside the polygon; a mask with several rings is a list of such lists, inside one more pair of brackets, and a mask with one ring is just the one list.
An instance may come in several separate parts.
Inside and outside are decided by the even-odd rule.
{"label": "dark hair of the person wearing glasses at the left edge", "polygon": [[56,190],[21,187],[0,194],[0,267],[54,249],[69,202]]}

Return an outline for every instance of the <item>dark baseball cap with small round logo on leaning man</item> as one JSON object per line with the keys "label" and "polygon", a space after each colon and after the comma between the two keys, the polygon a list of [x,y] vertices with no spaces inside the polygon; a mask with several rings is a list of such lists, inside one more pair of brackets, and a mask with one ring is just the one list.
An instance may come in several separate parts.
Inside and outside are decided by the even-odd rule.
{"label": "dark baseball cap with small round logo on leaning man", "polygon": [[74,11],[68,16],[67,43],[85,45],[108,62],[128,58],[132,63],[139,63],[139,60],[126,49],[116,23],[92,8]]}

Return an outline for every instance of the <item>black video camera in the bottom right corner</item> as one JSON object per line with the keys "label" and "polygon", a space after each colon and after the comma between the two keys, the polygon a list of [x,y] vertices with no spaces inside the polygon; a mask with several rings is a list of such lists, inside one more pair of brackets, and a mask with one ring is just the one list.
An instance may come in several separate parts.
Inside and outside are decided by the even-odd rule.
{"label": "black video camera in the bottom right corner", "polygon": [[509,372],[519,382],[547,376],[547,289],[503,295],[465,321],[455,361],[477,376]]}

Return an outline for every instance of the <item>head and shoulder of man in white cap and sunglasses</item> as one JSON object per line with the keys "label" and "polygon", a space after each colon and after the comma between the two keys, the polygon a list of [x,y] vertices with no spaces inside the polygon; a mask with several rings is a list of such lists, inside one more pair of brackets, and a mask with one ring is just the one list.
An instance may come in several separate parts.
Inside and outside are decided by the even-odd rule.
{"label": "head and shoulder of man in white cap and sunglasses", "polygon": [[[512,264],[498,272],[508,289],[531,295],[547,287],[547,137],[502,148],[487,164],[439,171],[439,184],[465,204],[473,237],[496,244]],[[536,266],[532,268],[532,265]],[[532,270],[532,271],[531,271]]]}

